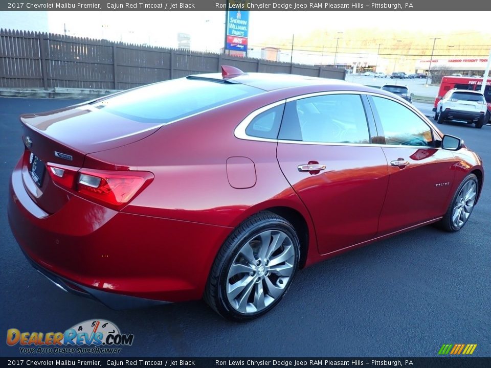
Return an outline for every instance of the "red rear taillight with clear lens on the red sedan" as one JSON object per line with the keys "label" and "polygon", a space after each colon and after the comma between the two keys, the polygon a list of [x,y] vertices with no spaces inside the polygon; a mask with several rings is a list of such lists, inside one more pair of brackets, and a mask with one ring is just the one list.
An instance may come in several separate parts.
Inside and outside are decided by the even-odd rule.
{"label": "red rear taillight with clear lens on the red sedan", "polygon": [[46,166],[59,187],[115,210],[123,208],[153,180],[148,171],[80,169],[52,163]]}

